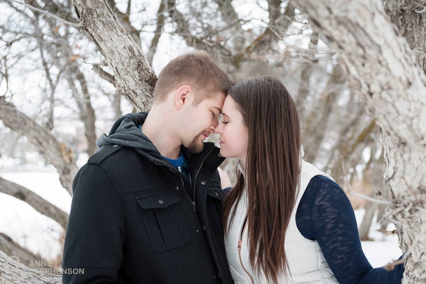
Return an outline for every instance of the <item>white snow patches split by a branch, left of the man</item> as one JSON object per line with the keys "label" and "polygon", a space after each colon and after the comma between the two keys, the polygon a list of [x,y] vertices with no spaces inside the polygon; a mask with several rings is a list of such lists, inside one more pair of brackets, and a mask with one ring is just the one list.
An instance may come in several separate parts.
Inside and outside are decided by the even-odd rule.
{"label": "white snow patches split by a branch, left of the man", "polygon": [[[22,185],[69,213],[71,196],[59,182],[52,166],[1,169],[0,176]],[[26,202],[0,193],[0,232],[43,258],[53,260],[62,250],[64,230],[56,221],[37,212]]]}

